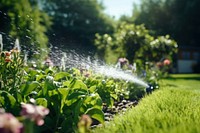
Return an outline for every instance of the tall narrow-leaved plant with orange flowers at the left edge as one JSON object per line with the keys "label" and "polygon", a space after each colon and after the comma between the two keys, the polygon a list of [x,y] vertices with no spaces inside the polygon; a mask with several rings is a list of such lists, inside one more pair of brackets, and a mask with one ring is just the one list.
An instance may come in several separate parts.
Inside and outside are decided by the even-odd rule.
{"label": "tall narrow-leaved plant with orange flowers at the left edge", "polygon": [[7,95],[8,99],[14,102],[3,103],[14,106],[15,102],[18,103],[19,101],[7,92],[17,97],[17,89],[19,89],[18,87],[23,77],[23,71],[21,69],[23,61],[20,58],[19,51],[15,49],[11,50],[11,52],[5,51],[0,54],[0,87],[1,90],[5,91],[2,91],[1,94]]}

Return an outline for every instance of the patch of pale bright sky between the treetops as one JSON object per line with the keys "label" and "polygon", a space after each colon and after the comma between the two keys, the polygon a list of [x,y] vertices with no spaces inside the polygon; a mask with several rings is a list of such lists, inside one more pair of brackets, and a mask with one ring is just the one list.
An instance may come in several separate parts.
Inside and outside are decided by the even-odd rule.
{"label": "patch of pale bright sky between the treetops", "polygon": [[140,0],[103,0],[105,13],[118,19],[121,15],[131,16],[133,3],[138,4]]}

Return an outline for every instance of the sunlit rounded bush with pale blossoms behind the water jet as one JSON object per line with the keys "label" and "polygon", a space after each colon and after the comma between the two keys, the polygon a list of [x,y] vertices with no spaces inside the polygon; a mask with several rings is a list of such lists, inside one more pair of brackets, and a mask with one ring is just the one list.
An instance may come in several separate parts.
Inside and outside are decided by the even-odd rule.
{"label": "sunlit rounded bush with pale blossoms behind the water jet", "polygon": [[[119,57],[126,57],[131,63],[139,60],[158,62],[162,58],[170,58],[177,51],[177,44],[169,36],[154,38],[144,25],[134,25],[122,22],[114,34],[96,34],[95,45],[99,55],[107,62],[110,56],[116,61]],[[144,67],[143,67],[144,68]]]}

